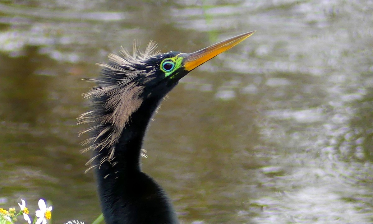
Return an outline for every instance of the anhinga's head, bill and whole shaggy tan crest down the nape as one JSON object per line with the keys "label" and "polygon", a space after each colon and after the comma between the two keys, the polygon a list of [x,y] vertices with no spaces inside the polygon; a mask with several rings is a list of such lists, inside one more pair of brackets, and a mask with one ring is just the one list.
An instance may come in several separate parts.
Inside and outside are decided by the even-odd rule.
{"label": "anhinga's head, bill and whole shaggy tan crest down the nape", "polygon": [[[95,87],[85,95],[91,98],[93,110],[79,117],[79,123],[93,123],[91,128],[82,132],[91,133],[92,137],[85,141],[91,145],[88,149],[113,147],[131,116],[142,105],[153,108],[147,108],[147,111],[154,112],[160,100],[182,77],[254,32],[229,38],[194,53],[153,53],[155,44],[151,42],[142,53],[134,49],[133,55],[126,50],[121,56],[110,54],[109,62],[100,64],[102,71],[98,79],[93,80]],[[109,161],[113,155],[114,150],[111,150]]]}

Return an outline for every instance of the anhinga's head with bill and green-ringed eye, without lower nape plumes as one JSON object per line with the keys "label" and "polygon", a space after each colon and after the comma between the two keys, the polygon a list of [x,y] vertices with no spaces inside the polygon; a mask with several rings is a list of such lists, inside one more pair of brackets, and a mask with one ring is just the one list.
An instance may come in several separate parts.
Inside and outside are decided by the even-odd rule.
{"label": "anhinga's head with bill and green-ringed eye, without lower nape plumes", "polygon": [[134,55],[131,56],[123,51],[122,57],[109,56],[109,63],[102,65],[104,68],[101,79],[112,88],[121,89],[119,92],[125,92],[126,96],[122,95],[123,97],[134,95],[136,99],[140,97],[142,100],[149,97],[163,98],[186,74],[245,40],[254,32],[229,38],[194,53],[153,54],[153,43],[148,45],[144,53],[137,53],[134,50]]}

